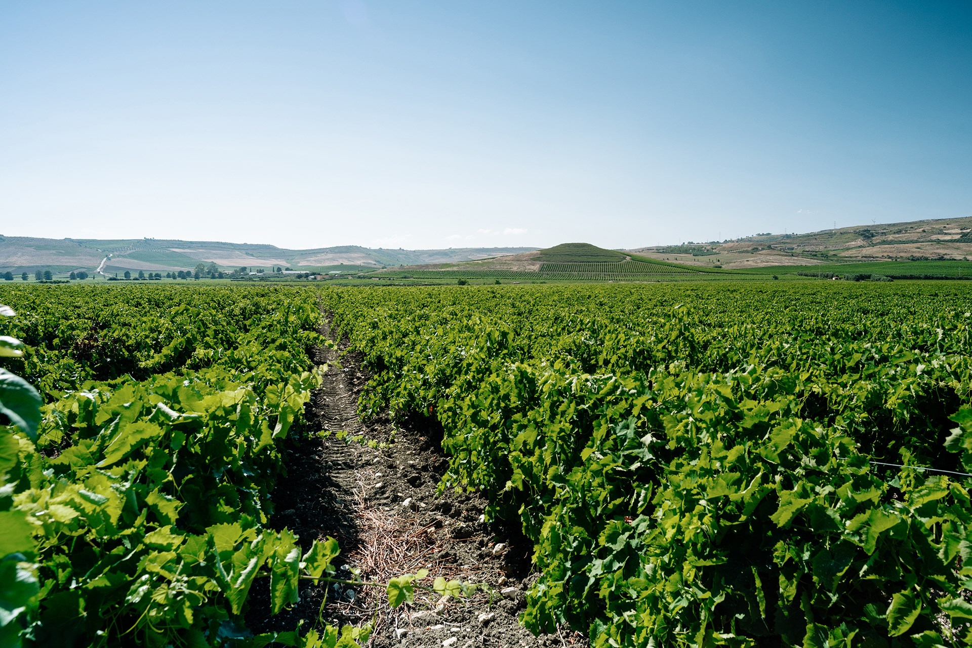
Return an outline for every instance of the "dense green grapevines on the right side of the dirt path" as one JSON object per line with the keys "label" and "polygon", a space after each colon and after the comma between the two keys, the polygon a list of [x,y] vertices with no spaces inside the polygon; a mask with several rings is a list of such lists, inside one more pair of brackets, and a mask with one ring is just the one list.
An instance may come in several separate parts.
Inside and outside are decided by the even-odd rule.
{"label": "dense green grapevines on the right side of the dirt path", "polygon": [[[972,644],[972,290],[326,290],[596,646]],[[905,464],[895,468],[874,463]],[[918,468],[934,468],[922,470]],[[944,472],[951,471],[951,472]]]}

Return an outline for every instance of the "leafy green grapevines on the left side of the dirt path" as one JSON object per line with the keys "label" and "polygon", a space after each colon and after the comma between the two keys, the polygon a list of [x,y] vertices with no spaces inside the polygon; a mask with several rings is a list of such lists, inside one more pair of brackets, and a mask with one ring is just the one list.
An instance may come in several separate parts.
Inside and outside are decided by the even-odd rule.
{"label": "leafy green grapevines on the left side of the dirt path", "polygon": [[[127,287],[126,287],[127,288]],[[0,369],[0,645],[351,646],[363,631],[254,637],[327,577],[332,539],[301,550],[264,525],[281,439],[320,370],[302,290],[3,290],[23,344]],[[6,339],[6,338],[5,338]]]}

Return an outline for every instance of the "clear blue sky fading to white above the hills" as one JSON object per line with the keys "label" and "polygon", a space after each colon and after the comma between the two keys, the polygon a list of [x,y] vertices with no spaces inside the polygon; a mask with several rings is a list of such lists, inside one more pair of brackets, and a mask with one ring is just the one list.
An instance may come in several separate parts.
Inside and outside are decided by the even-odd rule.
{"label": "clear blue sky fading to white above the hills", "polygon": [[608,248],[972,216],[972,3],[0,3],[0,234]]}

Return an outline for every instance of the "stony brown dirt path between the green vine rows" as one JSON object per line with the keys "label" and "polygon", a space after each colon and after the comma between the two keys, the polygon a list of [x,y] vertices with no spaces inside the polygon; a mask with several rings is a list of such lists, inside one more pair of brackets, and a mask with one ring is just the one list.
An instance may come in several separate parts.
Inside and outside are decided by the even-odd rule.
{"label": "stony brown dirt path between the green vine rows", "polygon": [[[330,338],[329,322],[321,332]],[[340,346],[346,352],[346,344]],[[341,547],[338,573],[358,569],[364,580],[384,583],[426,568],[430,576],[424,583],[443,576],[485,584],[491,593],[441,600],[417,591],[414,604],[392,609],[380,588],[331,585],[326,591],[323,585],[306,585],[295,608],[275,617],[260,613],[265,601],[257,597],[248,625],[255,631],[287,631],[297,622],[307,629],[319,619],[371,622],[374,632],[365,645],[372,648],[587,646],[582,635],[567,629],[534,636],[520,627],[517,617],[532,582],[532,548],[517,529],[484,523],[481,497],[435,495],[448,465],[437,424],[361,424],[358,397],[368,377],[360,358],[322,348],[315,359],[329,368],[308,420],[312,430],[330,435],[289,444],[288,477],[274,491],[270,527],[293,529],[305,545],[335,537]],[[339,439],[338,432],[347,435]]]}

